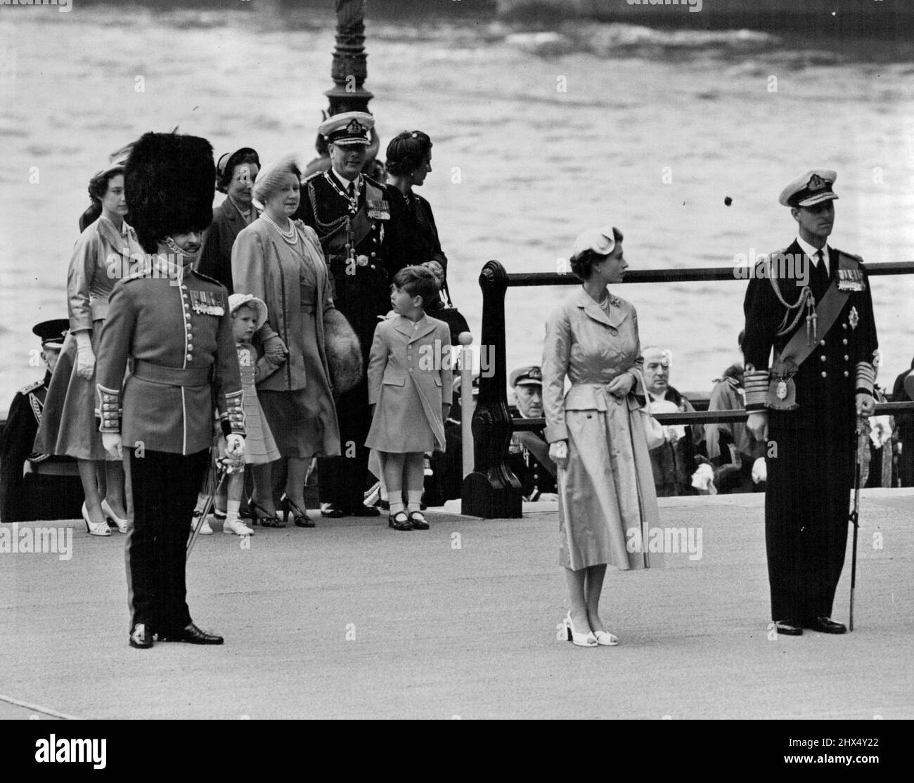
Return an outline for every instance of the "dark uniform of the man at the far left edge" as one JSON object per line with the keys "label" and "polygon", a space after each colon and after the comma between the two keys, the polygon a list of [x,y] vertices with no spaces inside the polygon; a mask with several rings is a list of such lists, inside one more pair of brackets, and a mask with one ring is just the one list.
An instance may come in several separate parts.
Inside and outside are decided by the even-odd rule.
{"label": "dark uniform of the man at the far left edge", "polygon": [[82,485],[76,460],[32,450],[51,374],[13,397],[0,446],[0,522],[80,516]]}

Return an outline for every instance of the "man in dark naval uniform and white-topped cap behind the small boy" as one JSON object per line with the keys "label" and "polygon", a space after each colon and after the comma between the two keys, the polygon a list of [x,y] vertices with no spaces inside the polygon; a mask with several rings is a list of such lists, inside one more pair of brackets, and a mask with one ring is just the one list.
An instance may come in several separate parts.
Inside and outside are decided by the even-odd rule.
{"label": "man in dark naval uniform and white-topped cap behind the small boy", "polygon": [[[334,283],[334,304],[358,335],[363,371],[377,326],[390,309],[385,270],[384,232],[390,208],[384,188],[362,174],[368,132],[375,120],[364,111],[335,114],[318,129],[327,141],[332,168],[303,182],[302,203],[292,217],[313,227],[321,240]],[[328,334],[332,341],[333,335]],[[364,379],[336,400],[342,457],[318,460],[324,516],[377,516],[364,504],[371,427],[368,387]]]}

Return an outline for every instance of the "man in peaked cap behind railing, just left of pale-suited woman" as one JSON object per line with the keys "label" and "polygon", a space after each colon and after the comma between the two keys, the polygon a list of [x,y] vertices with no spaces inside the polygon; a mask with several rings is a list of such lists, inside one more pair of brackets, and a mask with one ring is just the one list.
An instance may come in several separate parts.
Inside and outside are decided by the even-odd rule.
{"label": "man in peaked cap behind railing, just left of pale-suited woman", "polygon": [[[543,418],[543,371],[537,365],[518,367],[509,379],[516,407],[512,418]],[[558,501],[556,463],[549,459],[543,429],[515,432],[511,436],[508,465],[524,489],[526,501]]]}

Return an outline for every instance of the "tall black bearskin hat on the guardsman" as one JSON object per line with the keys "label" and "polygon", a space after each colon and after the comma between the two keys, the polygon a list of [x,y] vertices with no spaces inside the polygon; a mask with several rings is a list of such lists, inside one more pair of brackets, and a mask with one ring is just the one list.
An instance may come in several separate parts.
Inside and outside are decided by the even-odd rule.
{"label": "tall black bearskin hat on the guardsman", "polygon": [[131,225],[147,253],[165,237],[202,231],[213,222],[216,165],[206,139],[143,133],[123,179]]}

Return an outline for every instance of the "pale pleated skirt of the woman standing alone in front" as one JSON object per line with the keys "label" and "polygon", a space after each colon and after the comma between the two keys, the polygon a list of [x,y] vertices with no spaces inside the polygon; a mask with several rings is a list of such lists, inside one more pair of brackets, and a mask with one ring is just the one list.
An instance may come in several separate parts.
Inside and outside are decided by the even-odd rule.
{"label": "pale pleated skirt of the woman standing alone in front", "polygon": [[558,471],[560,566],[619,570],[663,565],[648,553],[660,526],[654,474],[641,415],[605,395],[607,410],[567,410],[569,462]]}

